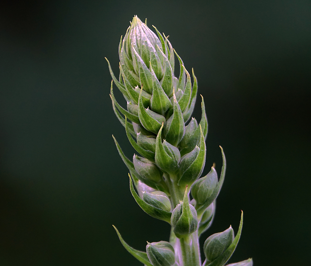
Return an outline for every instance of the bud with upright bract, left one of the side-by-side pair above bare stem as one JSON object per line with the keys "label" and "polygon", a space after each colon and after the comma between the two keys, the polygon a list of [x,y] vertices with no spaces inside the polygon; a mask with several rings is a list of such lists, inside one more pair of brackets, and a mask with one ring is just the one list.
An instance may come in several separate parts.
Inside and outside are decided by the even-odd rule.
{"label": "bud with upright bract, left one of the side-by-side pair above bare stem", "polygon": [[180,160],[180,153],[178,148],[169,144],[167,141],[161,141],[161,133],[162,133],[163,124],[158,132],[156,137],[156,154],[155,154],[155,162],[156,165],[167,173],[175,173],[177,172],[178,163]]}

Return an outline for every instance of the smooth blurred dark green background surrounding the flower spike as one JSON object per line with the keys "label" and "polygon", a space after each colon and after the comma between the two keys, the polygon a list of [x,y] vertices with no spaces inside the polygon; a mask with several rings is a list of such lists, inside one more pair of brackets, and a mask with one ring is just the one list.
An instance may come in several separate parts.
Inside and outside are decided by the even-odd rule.
{"label": "smooth blurred dark green background surrounding the flower spike", "polygon": [[310,14],[308,0],[2,2],[0,264],[142,265],[112,224],[140,250],[168,240],[168,224],[132,198],[111,137],[132,157],[104,56],[118,74],[137,15],[194,68],[209,122],[203,174],[213,162],[220,173],[219,145],[227,157],[202,244],[230,224],[237,232],[243,210],[231,263],[310,265]]}

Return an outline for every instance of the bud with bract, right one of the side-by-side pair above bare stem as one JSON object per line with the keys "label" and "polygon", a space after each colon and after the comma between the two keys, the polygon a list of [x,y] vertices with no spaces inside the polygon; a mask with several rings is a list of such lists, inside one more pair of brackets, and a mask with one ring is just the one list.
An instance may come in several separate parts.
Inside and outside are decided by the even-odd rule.
{"label": "bud with bract, right one of the side-by-side pair above bare stem", "polygon": [[179,185],[191,185],[202,174],[205,165],[206,146],[200,125],[200,146],[184,155],[179,164]]}

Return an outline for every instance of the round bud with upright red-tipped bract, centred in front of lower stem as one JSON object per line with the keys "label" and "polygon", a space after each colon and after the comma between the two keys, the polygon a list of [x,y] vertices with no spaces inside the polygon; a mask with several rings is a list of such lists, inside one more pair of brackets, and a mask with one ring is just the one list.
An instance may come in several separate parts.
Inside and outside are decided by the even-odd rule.
{"label": "round bud with upright red-tipped bract, centred in front of lower stem", "polygon": [[183,201],[180,201],[172,212],[171,224],[178,238],[188,236],[197,230],[197,211],[189,204],[187,187]]}

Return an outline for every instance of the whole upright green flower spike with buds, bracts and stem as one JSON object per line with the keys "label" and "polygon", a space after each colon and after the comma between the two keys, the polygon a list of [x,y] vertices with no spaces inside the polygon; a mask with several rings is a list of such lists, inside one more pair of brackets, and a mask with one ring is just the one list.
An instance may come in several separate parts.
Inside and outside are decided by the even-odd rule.
{"label": "whole upright green flower spike with buds, bracts and stem", "polygon": [[[138,251],[128,246],[115,229],[123,246],[145,265],[222,266],[239,241],[243,213],[235,237],[230,227],[207,238],[202,264],[198,238],[211,226],[215,215],[216,198],[225,177],[225,155],[220,147],[223,167],[219,180],[214,166],[199,178],[206,157],[204,100],[201,95],[202,116],[198,123],[190,119],[197,97],[193,70],[192,83],[168,38],[154,29],[157,35],[135,16],[124,38],[121,36],[118,79],[107,62],[113,79],[110,97],[114,112],[140,155],[128,159],[114,138],[129,169],[130,191],[142,210],[171,225],[170,242],[148,242],[146,252]],[[174,75],[175,55],[179,61],[178,78]],[[126,108],[117,102],[113,82],[127,101]],[[253,262],[248,259],[229,265],[251,266]]]}

